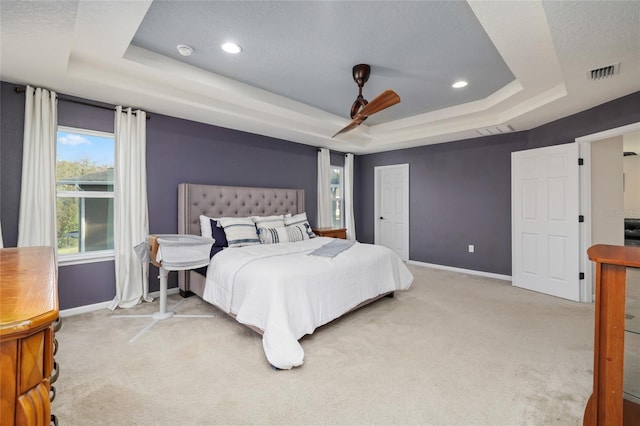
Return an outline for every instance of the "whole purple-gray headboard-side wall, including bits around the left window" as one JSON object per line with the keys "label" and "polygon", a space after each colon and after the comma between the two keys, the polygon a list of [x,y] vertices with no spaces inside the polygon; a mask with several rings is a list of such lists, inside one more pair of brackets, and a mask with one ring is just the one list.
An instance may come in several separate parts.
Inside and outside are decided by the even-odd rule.
{"label": "whole purple-gray headboard-side wall, including bits around the left window", "polygon": [[[2,83],[0,97],[0,206],[5,247],[18,241],[18,208],[24,125],[24,94]],[[315,147],[153,114],[147,121],[147,180],[150,233],[177,232],[178,184],[302,188],[309,220],[316,218]],[[60,125],[113,131],[113,111],[58,102]],[[332,160],[340,164],[341,156]],[[342,159],[344,162],[344,160]],[[158,289],[151,266],[151,291]],[[59,268],[60,309],[111,300],[113,261]],[[169,275],[176,286],[176,274]]]}

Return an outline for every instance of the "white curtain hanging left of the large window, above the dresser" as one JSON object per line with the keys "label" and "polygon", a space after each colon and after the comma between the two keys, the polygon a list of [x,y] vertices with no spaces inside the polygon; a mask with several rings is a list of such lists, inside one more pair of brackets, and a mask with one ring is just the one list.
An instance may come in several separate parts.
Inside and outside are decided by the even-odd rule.
{"label": "white curtain hanging left of the large window, above the dresser", "polygon": [[18,247],[51,246],[56,238],[56,130],[58,97],[25,89]]}

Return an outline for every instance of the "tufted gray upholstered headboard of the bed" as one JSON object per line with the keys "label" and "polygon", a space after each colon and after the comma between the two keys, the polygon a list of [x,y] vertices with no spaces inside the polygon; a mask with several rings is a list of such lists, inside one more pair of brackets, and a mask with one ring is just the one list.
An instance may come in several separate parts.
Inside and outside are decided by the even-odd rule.
{"label": "tufted gray upholstered headboard of the bed", "polygon": [[[178,233],[200,235],[200,215],[209,217],[271,216],[304,212],[304,190],[252,188],[194,183],[178,185]],[[204,278],[179,272],[180,293],[202,296]],[[202,288],[201,288],[202,287]]]}

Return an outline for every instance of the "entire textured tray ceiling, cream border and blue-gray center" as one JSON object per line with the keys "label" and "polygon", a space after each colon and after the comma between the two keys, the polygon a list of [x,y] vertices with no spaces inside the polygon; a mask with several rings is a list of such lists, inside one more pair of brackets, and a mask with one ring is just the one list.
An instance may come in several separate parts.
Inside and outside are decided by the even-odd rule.
{"label": "entire textured tray ceiling, cream border and blue-gray center", "polygon": [[[243,53],[223,54],[222,38]],[[402,102],[333,139],[357,63],[372,66],[367,99],[391,88]],[[639,91],[640,1],[2,0],[0,78],[380,152],[528,130]],[[458,78],[469,86],[451,89]]]}

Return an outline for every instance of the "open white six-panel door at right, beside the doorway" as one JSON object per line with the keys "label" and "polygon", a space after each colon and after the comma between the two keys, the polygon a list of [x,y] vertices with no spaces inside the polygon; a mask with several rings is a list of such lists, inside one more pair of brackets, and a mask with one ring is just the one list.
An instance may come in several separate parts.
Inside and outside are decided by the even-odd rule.
{"label": "open white six-panel door at right, beside the doorway", "polygon": [[513,285],[580,300],[578,145],[511,154]]}

